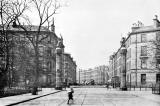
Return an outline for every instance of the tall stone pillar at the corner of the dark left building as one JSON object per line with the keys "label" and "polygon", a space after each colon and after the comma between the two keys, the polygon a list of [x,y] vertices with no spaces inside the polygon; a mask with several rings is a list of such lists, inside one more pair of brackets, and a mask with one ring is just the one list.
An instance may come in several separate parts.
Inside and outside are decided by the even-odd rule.
{"label": "tall stone pillar at the corner of the dark left building", "polygon": [[63,87],[63,49],[64,45],[61,41],[58,42],[56,48],[56,87],[57,90],[62,90]]}

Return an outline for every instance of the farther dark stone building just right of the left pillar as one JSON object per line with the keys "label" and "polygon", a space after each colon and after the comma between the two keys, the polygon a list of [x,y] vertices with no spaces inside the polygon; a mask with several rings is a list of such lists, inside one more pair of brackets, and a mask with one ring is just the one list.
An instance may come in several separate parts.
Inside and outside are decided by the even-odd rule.
{"label": "farther dark stone building just right of the left pillar", "polygon": [[73,60],[70,54],[64,53],[64,83],[66,85],[72,85],[76,83],[76,62]]}

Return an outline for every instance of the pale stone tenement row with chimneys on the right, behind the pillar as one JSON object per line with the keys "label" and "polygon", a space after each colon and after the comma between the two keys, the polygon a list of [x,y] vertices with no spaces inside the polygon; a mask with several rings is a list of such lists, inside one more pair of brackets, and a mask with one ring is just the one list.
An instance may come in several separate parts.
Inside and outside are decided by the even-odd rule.
{"label": "pale stone tenement row with chimneys on the right, behind the pillar", "polygon": [[151,86],[160,82],[160,21],[157,16],[153,25],[135,24],[131,33],[124,38],[127,49],[126,62],[122,64],[122,46],[110,56],[110,79],[113,85],[121,81],[122,67],[126,69],[126,84],[132,86]]}

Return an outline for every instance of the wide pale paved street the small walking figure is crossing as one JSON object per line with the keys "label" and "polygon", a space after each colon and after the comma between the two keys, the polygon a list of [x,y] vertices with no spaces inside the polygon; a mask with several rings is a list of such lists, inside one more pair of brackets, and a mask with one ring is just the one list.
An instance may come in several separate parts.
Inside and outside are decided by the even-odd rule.
{"label": "wide pale paved street the small walking figure is crossing", "polygon": [[[117,91],[106,88],[74,88],[73,106],[160,106],[149,91]],[[146,97],[149,97],[146,98]],[[154,95],[153,95],[154,96]],[[156,97],[159,97],[157,95]],[[16,106],[67,106],[67,92],[41,97]]]}

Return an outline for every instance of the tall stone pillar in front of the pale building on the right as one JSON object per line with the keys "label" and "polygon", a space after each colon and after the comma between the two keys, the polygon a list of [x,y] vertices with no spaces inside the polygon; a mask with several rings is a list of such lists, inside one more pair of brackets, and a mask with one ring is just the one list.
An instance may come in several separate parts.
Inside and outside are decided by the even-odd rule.
{"label": "tall stone pillar in front of the pale building on the right", "polygon": [[120,89],[122,91],[126,91],[127,90],[127,86],[126,86],[126,53],[127,53],[127,49],[122,46],[121,48],[121,85],[120,85]]}

